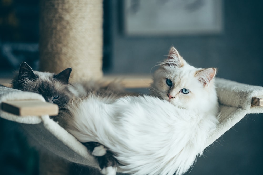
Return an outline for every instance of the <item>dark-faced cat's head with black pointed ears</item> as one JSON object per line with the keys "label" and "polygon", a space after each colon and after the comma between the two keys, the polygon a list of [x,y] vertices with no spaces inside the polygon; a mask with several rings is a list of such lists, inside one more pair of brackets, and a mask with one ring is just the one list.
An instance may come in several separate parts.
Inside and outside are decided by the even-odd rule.
{"label": "dark-faced cat's head with black pointed ears", "polygon": [[[72,97],[68,90],[68,79],[71,68],[67,68],[59,74],[39,74],[25,62],[20,65],[19,72],[12,81],[12,87],[22,91],[34,92],[41,94],[47,102],[57,104],[63,107]],[[50,81],[41,79],[45,76]]]}

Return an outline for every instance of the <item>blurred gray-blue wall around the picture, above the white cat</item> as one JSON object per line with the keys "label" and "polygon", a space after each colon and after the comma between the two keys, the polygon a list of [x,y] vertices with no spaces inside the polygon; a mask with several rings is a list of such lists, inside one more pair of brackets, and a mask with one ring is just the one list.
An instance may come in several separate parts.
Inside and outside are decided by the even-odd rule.
{"label": "blurred gray-blue wall around the picture, above the white cat", "polygon": [[223,1],[224,31],[215,35],[128,37],[120,1],[112,7],[112,67],[105,73],[150,73],[171,45],[195,67],[216,67],[218,77],[263,86],[262,1]]}

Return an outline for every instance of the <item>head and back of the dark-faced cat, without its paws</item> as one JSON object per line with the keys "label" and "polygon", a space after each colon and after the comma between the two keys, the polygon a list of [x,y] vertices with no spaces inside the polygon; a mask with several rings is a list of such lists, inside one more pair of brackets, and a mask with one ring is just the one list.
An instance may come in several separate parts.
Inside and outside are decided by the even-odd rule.
{"label": "head and back of the dark-faced cat, without its paws", "polygon": [[34,71],[26,62],[22,62],[12,80],[12,88],[41,94],[47,102],[59,107],[64,107],[73,96],[87,96],[89,93],[104,97],[107,103],[122,96],[138,95],[125,91],[117,81],[108,84],[94,80],[69,83],[71,71],[71,68],[58,74]]}

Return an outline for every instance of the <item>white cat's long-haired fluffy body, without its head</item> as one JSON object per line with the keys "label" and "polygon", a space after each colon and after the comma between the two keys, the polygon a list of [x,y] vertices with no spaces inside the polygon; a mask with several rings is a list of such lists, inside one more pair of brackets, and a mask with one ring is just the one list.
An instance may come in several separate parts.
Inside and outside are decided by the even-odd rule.
{"label": "white cat's long-haired fluffy body, without its head", "polygon": [[69,109],[67,129],[80,142],[99,142],[124,169],[138,174],[184,173],[204,148],[216,116],[196,114],[155,97],[120,98],[105,104],[90,97]]}

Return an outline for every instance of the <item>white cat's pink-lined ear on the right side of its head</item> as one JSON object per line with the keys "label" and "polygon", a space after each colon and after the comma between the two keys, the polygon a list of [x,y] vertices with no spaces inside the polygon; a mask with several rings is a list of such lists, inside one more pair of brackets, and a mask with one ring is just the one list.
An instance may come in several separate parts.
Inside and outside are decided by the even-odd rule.
{"label": "white cat's pink-lined ear on the right side of its head", "polygon": [[198,78],[198,81],[203,84],[203,86],[206,86],[215,77],[215,74],[216,68],[208,68],[197,71],[195,76]]}

